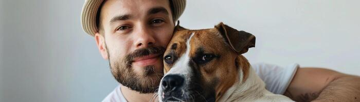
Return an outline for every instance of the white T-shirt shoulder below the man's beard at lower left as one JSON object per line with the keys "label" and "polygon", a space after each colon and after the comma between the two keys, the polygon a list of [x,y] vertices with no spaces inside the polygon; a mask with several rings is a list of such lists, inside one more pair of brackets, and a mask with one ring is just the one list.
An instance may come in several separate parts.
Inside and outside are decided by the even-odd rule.
{"label": "white T-shirt shoulder below the man's beard at lower left", "polygon": [[103,102],[126,102],[127,100],[123,97],[121,93],[120,86],[117,86],[109,95],[107,95],[102,101]]}

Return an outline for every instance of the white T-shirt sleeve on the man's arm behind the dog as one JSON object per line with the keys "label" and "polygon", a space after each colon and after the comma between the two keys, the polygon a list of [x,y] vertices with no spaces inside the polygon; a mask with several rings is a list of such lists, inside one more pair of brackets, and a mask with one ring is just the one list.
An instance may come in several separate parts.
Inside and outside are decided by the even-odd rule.
{"label": "white T-shirt sleeve on the man's arm behind the dog", "polygon": [[252,64],[259,77],[265,82],[266,89],[275,93],[283,94],[290,85],[299,64],[291,64],[281,67],[272,64]]}

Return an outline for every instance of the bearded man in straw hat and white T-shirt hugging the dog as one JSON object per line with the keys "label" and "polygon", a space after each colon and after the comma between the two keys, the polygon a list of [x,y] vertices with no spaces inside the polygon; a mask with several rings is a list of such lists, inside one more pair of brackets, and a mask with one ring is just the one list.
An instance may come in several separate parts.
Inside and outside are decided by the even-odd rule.
{"label": "bearded man in straw hat and white T-shirt hugging the dog", "polygon": [[[103,101],[150,101],[163,77],[163,53],[185,0],[87,0],[83,29],[95,37],[120,83]],[[194,15],[196,16],[196,15]],[[322,68],[253,65],[266,88],[296,101],[360,101],[360,78]]]}

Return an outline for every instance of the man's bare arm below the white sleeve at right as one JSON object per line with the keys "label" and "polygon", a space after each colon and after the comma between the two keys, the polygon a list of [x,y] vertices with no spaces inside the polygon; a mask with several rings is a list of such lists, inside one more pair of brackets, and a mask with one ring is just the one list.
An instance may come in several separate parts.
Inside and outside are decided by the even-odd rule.
{"label": "man's bare arm below the white sleeve at right", "polygon": [[284,95],[295,101],[360,101],[360,77],[323,68],[298,68]]}

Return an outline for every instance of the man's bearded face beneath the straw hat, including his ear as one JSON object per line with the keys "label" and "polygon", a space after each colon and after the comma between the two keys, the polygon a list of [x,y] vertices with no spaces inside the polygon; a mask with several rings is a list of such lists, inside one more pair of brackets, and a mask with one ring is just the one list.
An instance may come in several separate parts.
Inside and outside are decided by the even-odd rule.
{"label": "man's bearded face beneath the straw hat, including his ear", "polygon": [[168,0],[109,0],[100,13],[104,34],[95,39],[115,79],[140,93],[163,77],[163,54],[174,30]]}

